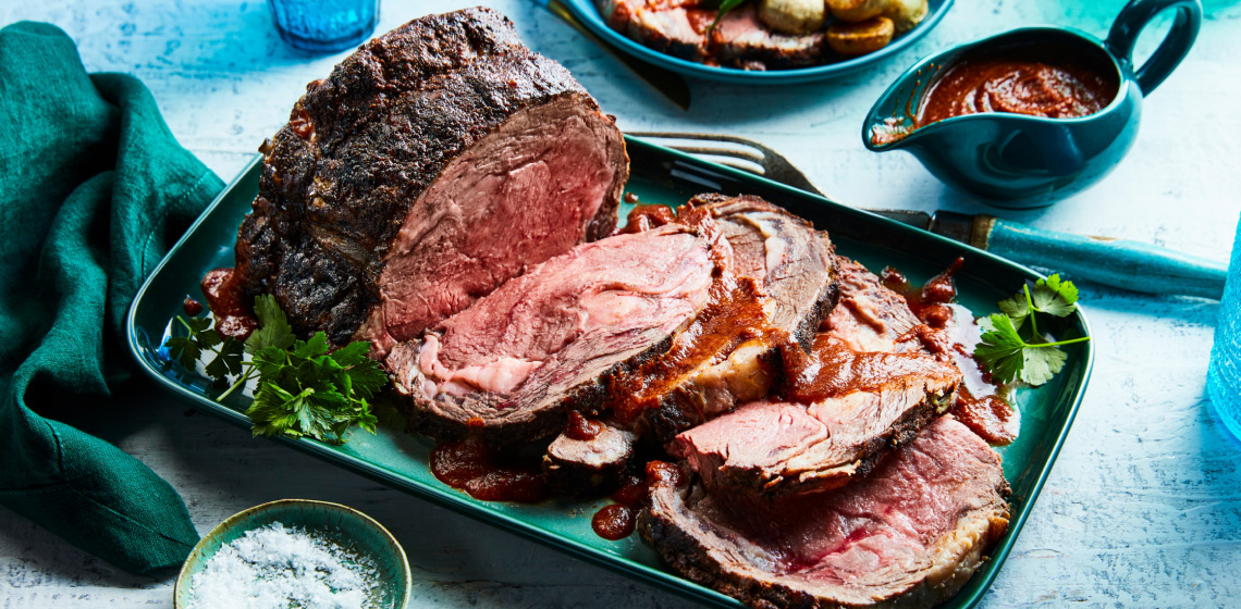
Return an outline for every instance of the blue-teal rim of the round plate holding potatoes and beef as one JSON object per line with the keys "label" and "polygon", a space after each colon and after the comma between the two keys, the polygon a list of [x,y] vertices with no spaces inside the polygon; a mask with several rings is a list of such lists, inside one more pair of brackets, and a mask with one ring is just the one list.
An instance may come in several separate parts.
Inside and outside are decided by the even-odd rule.
{"label": "blue-teal rim of the round plate holding potatoes and beef", "polygon": [[[545,0],[536,0],[544,4]],[[954,0],[930,0],[930,12],[912,30],[894,37],[884,48],[872,53],[866,53],[851,60],[834,63],[824,63],[809,68],[747,71],[738,68],[726,68],[707,66],[689,60],[673,57],[671,55],[648,48],[628,36],[608,27],[599,15],[598,9],[591,0],[562,0],[577,19],[594,35],[603,37],[609,43],[619,47],[623,52],[640,58],[648,63],[654,63],[685,76],[694,76],[709,81],[719,81],[732,84],[800,84],[815,81],[825,81],[839,76],[845,76],[860,69],[865,69],[877,62],[896,55],[926,36],[934,26],[943,20]]]}

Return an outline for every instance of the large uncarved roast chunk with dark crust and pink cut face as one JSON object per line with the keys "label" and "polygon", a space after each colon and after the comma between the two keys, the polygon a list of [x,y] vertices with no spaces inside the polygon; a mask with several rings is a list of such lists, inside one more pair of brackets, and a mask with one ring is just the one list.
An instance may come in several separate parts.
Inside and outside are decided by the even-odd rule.
{"label": "large uncarved roast chunk with dark crust and pink cut face", "polygon": [[489,9],[362,45],[263,150],[240,288],[377,352],[611,233],[628,174],[613,120]]}

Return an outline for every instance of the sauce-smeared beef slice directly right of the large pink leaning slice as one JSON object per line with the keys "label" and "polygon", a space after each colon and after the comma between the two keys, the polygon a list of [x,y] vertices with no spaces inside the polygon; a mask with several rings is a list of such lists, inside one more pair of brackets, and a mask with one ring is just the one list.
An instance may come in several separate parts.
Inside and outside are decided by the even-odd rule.
{"label": "sauce-smeared beef slice directly right of the large pink leaning slice", "polygon": [[674,337],[668,353],[638,368],[609,404],[623,422],[640,416],[660,442],[767,396],[778,350],[809,345],[836,294],[827,237],[758,197],[699,195],[678,217],[714,220],[732,252],[707,308]]}

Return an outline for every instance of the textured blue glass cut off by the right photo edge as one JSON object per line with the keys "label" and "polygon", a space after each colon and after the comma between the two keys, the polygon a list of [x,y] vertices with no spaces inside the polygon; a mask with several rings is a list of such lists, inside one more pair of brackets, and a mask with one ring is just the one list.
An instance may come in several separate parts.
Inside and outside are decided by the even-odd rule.
{"label": "textured blue glass cut off by the right photo edge", "polygon": [[1241,224],[1232,241],[1229,283],[1215,322],[1215,346],[1206,368],[1206,393],[1220,420],[1241,439]]}

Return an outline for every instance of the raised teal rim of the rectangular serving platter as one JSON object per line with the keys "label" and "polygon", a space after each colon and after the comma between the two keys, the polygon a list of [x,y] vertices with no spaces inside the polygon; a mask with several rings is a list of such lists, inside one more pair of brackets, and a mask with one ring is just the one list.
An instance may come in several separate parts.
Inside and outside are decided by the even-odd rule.
{"label": "raised teal rim of the rectangular serving platter", "polygon": [[[905,258],[923,258],[931,264],[938,265],[941,269],[943,268],[943,264],[946,264],[944,260],[951,262],[951,259],[954,259],[956,256],[967,256],[967,259],[969,260],[967,270],[978,267],[977,263],[980,262],[983,263],[983,267],[989,267],[993,273],[999,272],[1004,277],[1003,280],[983,282],[984,284],[992,287],[993,291],[999,289],[1011,293],[1020,285],[1020,280],[1036,279],[1041,277],[1026,267],[1018,265],[987,252],[926,231],[908,227],[889,218],[843,206],[825,197],[792,189],[741,170],[702,161],[690,155],[649,144],[635,138],[627,136],[625,141],[629,146],[630,159],[634,165],[630,184],[642,182],[643,180],[647,180],[648,182],[679,180],[676,184],[681,187],[680,190],[691,193],[705,192],[712,189],[758,193],[773,200],[777,203],[789,207],[797,213],[807,216],[808,220],[814,221],[817,226],[820,226],[820,228],[828,228],[829,231],[834,228],[836,232],[833,234],[846,236],[845,238],[853,238],[855,241],[864,239],[867,234],[879,234],[882,239],[889,241],[896,239],[892,243],[874,243],[874,246],[879,249],[886,249],[894,256]],[[249,189],[249,192],[244,193],[244,196],[247,198],[253,198],[253,193],[257,190],[258,162],[259,160],[256,158],[256,160],[248,165],[223,192],[221,192],[216,201],[213,201],[207,210],[204,211],[202,216],[195,221],[176,246],[172,247],[170,253],[159,263],[134,299],[129,310],[127,324],[127,340],[134,358],[139,362],[140,368],[145,373],[150,375],[158,385],[171,391],[175,396],[185,398],[199,409],[244,428],[249,427],[249,419],[242,412],[210,399],[205,394],[194,391],[195,388],[189,383],[179,381],[168,373],[170,363],[158,352],[160,345],[151,345],[150,341],[146,340],[148,336],[156,332],[148,332],[146,329],[141,327],[138,318],[141,309],[144,309],[144,305],[153,299],[149,294],[151,285],[158,278],[161,277],[161,273],[168,269],[172,260],[177,258],[185,244],[199,231],[204,229],[211,221],[218,221],[218,218],[215,218],[215,215],[220,212],[222,203],[228,200],[230,196],[233,198],[240,196],[233,193],[233,191],[236,189]],[[671,166],[673,169],[669,171],[669,175],[650,175],[653,167],[656,166]],[[689,177],[678,177],[678,171],[681,171],[683,174],[690,171],[694,172],[694,175],[690,175]],[[702,176],[707,177],[704,179]],[[712,182],[711,179],[715,179],[716,181]],[[680,198],[680,201],[684,202],[685,198]],[[230,229],[232,231],[232,234],[236,234],[236,218],[228,218],[228,222],[233,223]],[[828,226],[822,226],[820,222],[827,223]],[[851,234],[856,233],[859,229],[861,229],[865,234]],[[233,243],[231,241],[228,243],[217,244],[221,251],[227,249],[230,253],[232,246]],[[923,247],[923,249],[920,251],[917,249],[918,247]],[[963,275],[969,275],[969,273],[963,273]],[[186,285],[196,287],[197,279],[197,277],[186,277],[184,283]],[[992,303],[992,305],[994,305],[994,303]],[[170,310],[168,313],[169,316],[175,315],[175,311]],[[1087,320],[1081,309],[1078,309],[1078,313],[1073,316],[1067,318],[1062,325],[1071,326],[1082,334],[1090,332]],[[155,327],[153,325],[151,330],[154,329]],[[992,549],[990,561],[984,563],[978,572],[975,572],[974,577],[961,593],[942,607],[974,607],[994,580],[999,567],[1003,564],[1018,537],[1018,533],[1024,526],[1030,509],[1041,491],[1046,478],[1051,471],[1055,458],[1059,455],[1060,448],[1067,437],[1072,419],[1081,406],[1086,385],[1090,380],[1090,372],[1093,366],[1093,341],[1082,345],[1073,345],[1071,349],[1070,365],[1066,366],[1065,372],[1052,381],[1057,391],[1055,398],[1051,399],[1046,396],[1041,396],[1039,398],[1040,403],[1052,403],[1055,411],[1054,414],[1059,419],[1056,423],[1056,433],[1052,438],[1046,438],[1046,443],[1039,444],[1037,448],[1042,454],[1039,455],[1036,463],[1026,463],[1024,469],[1018,470],[1015,474],[1010,473],[1009,468],[1005,468],[1005,475],[1010,478],[1010,481],[1019,476],[1019,482],[1025,489],[1025,491],[1020,495],[1015,492],[1014,515],[1010,521],[1009,530],[1005,532],[1000,542]],[[1044,387],[1039,391],[1042,392],[1051,389],[1051,387]],[[1026,417],[1028,414],[1023,413],[1023,420]],[[400,432],[396,433],[400,434]],[[330,447],[308,439],[277,438],[272,442],[290,445],[298,450],[340,465],[381,484],[405,490],[442,507],[473,517],[480,522],[504,528],[527,540],[552,547],[589,563],[609,568],[637,580],[642,580],[669,592],[716,607],[742,607],[737,600],[684,579],[670,571],[664,571],[663,568],[652,564],[643,564],[632,557],[619,556],[617,552],[599,549],[589,543],[585,543],[580,538],[529,522],[526,518],[522,518],[521,515],[506,513],[496,509],[494,505],[479,502],[443,485],[437,486],[436,482],[427,484],[416,480],[410,475],[395,471],[388,466],[382,466],[355,454],[349,454],[339,447]],[[1019,437],[1018,443],[1020,442],[1021,438]],[[1004,448],[1000,448],[1001,453],[1004,453]],[[1008,464],[1008,459],[1005,461],[1006,465],[1010,465]],[[1014,487],[1016,489],[1018,484],[1014,484]],[[500,504],[500,506],[504,505],[505,504]]]}

